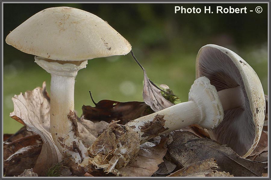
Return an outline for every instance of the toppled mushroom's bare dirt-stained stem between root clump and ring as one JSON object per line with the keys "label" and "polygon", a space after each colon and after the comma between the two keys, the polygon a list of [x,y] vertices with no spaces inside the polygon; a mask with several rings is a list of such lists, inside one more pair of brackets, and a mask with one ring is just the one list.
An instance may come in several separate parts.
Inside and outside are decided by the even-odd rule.
{"label": "toppled mushroom's bare dirt-stained stem between root clump and ring", "polygon": [[188,101],[140,117],[128,122],[126,125],[134,128],[134,131],[139,134],[140,143],[142,144],[161,134],[166,134],[191,124],[200,124],[202,117],[201,109],[195,101]]}

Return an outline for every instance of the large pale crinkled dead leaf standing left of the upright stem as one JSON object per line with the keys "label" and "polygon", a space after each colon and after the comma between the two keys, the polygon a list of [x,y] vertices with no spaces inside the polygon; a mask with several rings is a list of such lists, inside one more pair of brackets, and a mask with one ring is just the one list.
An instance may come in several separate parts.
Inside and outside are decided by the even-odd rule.
{"label": "large pale crinkled dead leaf standing left of the upright stem", "polygon": [[37,87],[33,91],[15,95],[12,101],[14,111],[10,113],[11,118],[22,123],[27,130],[39,134],[42,138],[43,146],[34,172],[43,176],[47,168],[61,161],[62,158],[50,133],[50,98],[46,91],[45,82],[43,82],[42,88]]}

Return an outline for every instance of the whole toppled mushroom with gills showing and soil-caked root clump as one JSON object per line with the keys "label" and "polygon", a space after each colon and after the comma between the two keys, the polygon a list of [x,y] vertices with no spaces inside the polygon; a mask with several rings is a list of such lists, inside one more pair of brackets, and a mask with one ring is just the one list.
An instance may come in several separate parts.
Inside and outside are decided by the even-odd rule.
{"label": "whole toppled mushroom with gills showing and soil-caked root clump", "polygon": [[[138,149],[135,146],[191,124],[206,128],[239,155],[248,156],[259,141],[265,114],[265,98],[257,74],[231,50],[207,45],[197,56],[197,77],[188,94],[188,102],[140,117],[126,125],[111,125],[116,124],[114,122],[104,128],[88,149],[92,163],[116,173],[115,167],[129,163],[127,156],[136,156]],[[130,131],[139,137],[138,140],[134,138],[136,142],[123,141]],[[227,137],[231,133],[231,137]],[[104,144],[104,139],[113,136],[116,140],[111,146]],[[116,145],[113,152],[112,144]],[[129,144],[132,144],[132,152],[127,149]]]}

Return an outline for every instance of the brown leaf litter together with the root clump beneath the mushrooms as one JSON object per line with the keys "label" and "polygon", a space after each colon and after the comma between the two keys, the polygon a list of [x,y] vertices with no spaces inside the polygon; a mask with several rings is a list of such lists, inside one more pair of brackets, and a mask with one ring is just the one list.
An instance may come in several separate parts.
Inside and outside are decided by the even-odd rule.
{"label": "brown leaf litter together with the root clump beneath the mushrooms", "polygon": [[[167,98],[167,94],[164,93],[167,86],[162,85],[161,88],[163,91],[159,90],[160,95]],[[173,94],[171,91],[169,93]],[[158,100],[154,99],[154,102]],[[72,119],[74,123],[77,122],[79,137],[84,146],[89,147],[91,159],[86,162],[89,163],[86,172],[82,168],[74,167],[73,157],[67,155],[62,160],[51,139],[50,98],[45,89],[45,82],[42,88],[37,87],[33,91],[15,95],[13,102],[14,112],[11,113],[11,117],[25,126],[13,135],[4,136],[5,176],[268,176],[266,131],[262,131],[257,147],[245,159],[229,147],[209,139],[208,131],[196,124],[156,136],[153,133],[155,127],[163,127],[163,117],[159,116],[156,117],[156,121],[141,127],[146,135],[152,134],[153,138],[149,140],[151,142],[139,146],[138,134],[129,131],[130,127],[117,123],[123,124],[154,111],[144,102],[122,103],[111,100],[98,103],[93,101],[95,107],[83,106],[86,107],[86,114],[81,118],[73,114]],[[86,120],[86,116],[91,121]],[[132,144],[129,141],[137,143]],[[52,159],[53,157],[55,159]]]}

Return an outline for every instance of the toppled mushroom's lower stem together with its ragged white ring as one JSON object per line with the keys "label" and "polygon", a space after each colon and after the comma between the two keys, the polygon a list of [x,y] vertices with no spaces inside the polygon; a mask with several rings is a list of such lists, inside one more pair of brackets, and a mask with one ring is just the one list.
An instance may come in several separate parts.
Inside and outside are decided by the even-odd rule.
{"label": "toppled mushroom's lower stem together with its ragged white ring", "polygon": [[153,137],[182,129],[191,124],[213,129],[223,119],[223,106],[216,88],[210,84],[207,77],[195,80],[188,99],[188,102],[175,104],[130,121],[126,125],[134,128],[134,131],[139,134],[140,142],[144,143]]}

